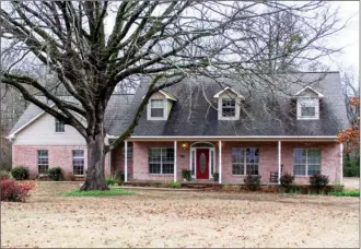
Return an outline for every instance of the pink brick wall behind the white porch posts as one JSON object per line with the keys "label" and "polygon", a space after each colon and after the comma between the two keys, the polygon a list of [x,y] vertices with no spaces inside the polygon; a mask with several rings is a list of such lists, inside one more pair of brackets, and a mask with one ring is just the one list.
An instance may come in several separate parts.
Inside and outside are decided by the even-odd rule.
{"label": "pink brick wall behind the white porch posts", "polygon": [[[182,144],[187,144],[184,150]],[[189,146],[193,142],[179,141],[177,143],[177,180],[182,180],[182,169],[189,168]],[[218,171],[218,142],[216,145],[216,171]],[[171,175],[151,175],[148,166],[149,147],[173,147],[173,142],[133,142],[133,179],[139,180],[173,180]],[[243,183],[244,176],[232,175],[232,147],[256,147],[259,149],[259,175],[261,182],[269,182],[269,173],[278,170],[278,143],[277,142],[222,142],[222,182]],[[282,142],[281,164],[283,173],[293,175],[293,149],[321,147],[322,149],[322,174],[329,177],[330,182],[339,180],[340,154],[337,143],[295,143]],[[308,182],[308,177],[296,177],[295,182]]]}

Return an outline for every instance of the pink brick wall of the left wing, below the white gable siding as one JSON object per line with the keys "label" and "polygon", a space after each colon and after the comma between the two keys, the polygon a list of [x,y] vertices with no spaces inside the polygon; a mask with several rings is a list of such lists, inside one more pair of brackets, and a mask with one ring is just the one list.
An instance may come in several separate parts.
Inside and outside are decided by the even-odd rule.
{"label": "pink brick wall of the left wing, below the white gable siding", "polygon": [[[30,169],[31,178],[38,176],[37,169],[37,151],[48,150],[49,168],[61,167],[63,177],[69,180],[72,175],[72,150],[84,150],[84,167],[88,168],[88,153],[86,146],[65,146],[65,145],[14,145],[12,166],[25,166]],[[108,155],[105,157],[105,174],[109,174],[109,159]]]}

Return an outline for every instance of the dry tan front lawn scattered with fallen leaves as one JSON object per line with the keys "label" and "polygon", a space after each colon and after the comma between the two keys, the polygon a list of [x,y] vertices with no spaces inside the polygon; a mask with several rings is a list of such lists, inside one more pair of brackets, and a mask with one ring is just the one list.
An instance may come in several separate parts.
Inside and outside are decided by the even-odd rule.
{"label": "dry tan front lawn scattered with fallen leaves", "polygon": [[[1,203],[1,247],[359,247],[359,198],[133,190]],[[21,236],[20,236],[21,235]]]}

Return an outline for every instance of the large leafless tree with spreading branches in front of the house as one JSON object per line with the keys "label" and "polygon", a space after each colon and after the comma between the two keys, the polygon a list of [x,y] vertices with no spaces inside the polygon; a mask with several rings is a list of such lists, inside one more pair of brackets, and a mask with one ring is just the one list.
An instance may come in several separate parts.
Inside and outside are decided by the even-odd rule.
{"label": "large leafless tree with spreading branches in front of the house", "polygon": [[[0,10],[1,37],[9,42],[2,51],[16,55],[16,63],[26,59],[46,64],[77,104],[58,97],[54,85],[19,73],[16,63],[1,70],[1,81],[84,137],[89,167],[82,189],[103,190],[107,189],[105,154],[130,135],[153,93],[195,73],[213,79],[235,72],[258,78],[264,71],[257,66],[281,61],[287,68],[327,55],[319,43],[342,28],[336,14],[325,2],[315,1],[11,1]],[[264,40],[266,33],[272,33],[272,28],[264,29],[266,25],[283,22],[277,15],[296,20],[304,29],[270,34]],[[149,91],[131,124],[106,146],[107,103],[115,90],[133,87],[141,75],[151,76]],[[40,102],[28,87],[57,108]]]}

